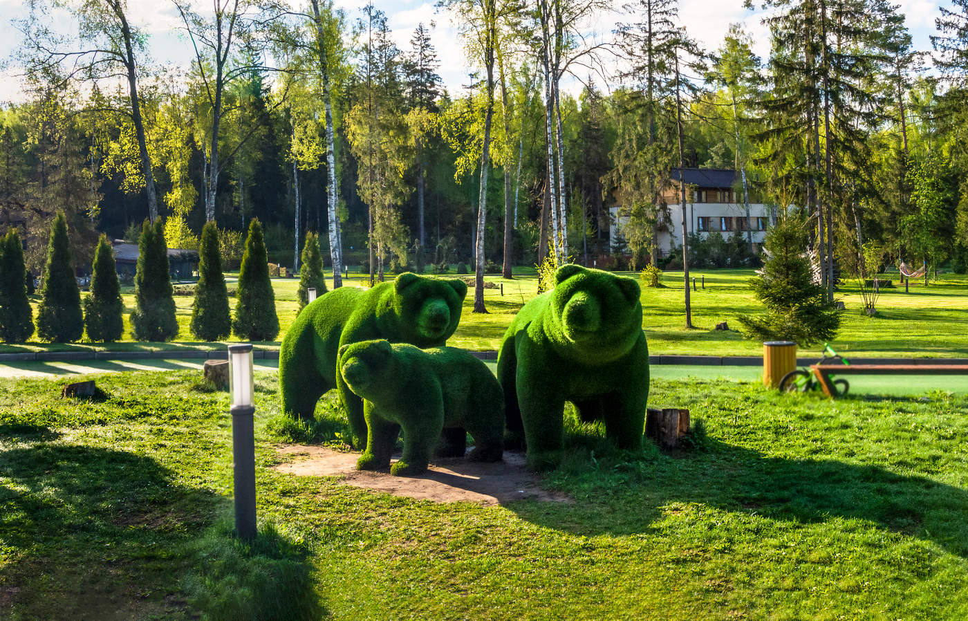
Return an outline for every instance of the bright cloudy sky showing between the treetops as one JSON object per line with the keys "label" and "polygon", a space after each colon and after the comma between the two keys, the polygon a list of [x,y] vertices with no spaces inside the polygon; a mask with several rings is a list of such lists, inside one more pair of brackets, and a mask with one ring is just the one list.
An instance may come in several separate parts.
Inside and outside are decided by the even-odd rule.
{"label": "bright cloudy sky showing between the treetops", "polygon": [[[362,14],[359,7],[362,0],[335,0],[336,6],[345,10],[350,21]],[[901,12],[907,18],[908,28],[918,49],[931,48],[930,35],[934,32],[934,18],[939,16],[938,7],[949,6],[949,2],[936,0],[896,0]],[[624,0],[615,3],[616,12],[600,16],[591,25],[599,37],[610,37],[612,30],[622,17],[620,6]],[[14,21],[24,15],[24,0],[0,0],[0,102],[22,100],[18,70],[9,60],[17,46],[20,34]],[[205,3],[207,4],[207,3]],[[756,51],[766,58],[770,51],[767,28],[762,24],[762,11],[749,11],[742,7],[741,0],[680,0],[680,16],[691,36],[698,39],[708,49],[714,50],[722,43],[731,23],[743,24],[754,40]],[[439,74],[447,89],[453,94],[462,90],[469,82],[469,72],[473,71],[465,60],[465,52],[460,35],[453,23],[452,16],[440,13],[434,2],[425,0],[374,0],[374,5],[387,16],[398,47],[407,50],[413,29],[418,23],[429,25],[436,22],[431,40],[437,47],[441,60]],[[150,37],[149,46],[153,60],[166,65],[187,67],[192,60],[192,47],[177,31],[180,18],[170,0],[128,0],[129,18],[140,26]],[[51,25],[60,31],[70,27],[70,20],[63,13],[49,14]],[[600,80],[596,80],[600,83]],[[577,90],[580,83],[570,80],[564,84],[565,90]]]}

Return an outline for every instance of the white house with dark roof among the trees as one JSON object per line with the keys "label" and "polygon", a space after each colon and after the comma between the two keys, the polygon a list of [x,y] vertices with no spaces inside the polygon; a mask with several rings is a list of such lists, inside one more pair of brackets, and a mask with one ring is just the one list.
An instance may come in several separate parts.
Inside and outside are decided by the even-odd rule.
{"label": "white house with dark roof among the trees", "polygon": [[[723,169],[685,169],[683,171],[686,183],[685,221],[688,233],[719,233],[723,237],[730,237],[740,232],[745,237],[746,232],[752,233],[753,249],[760,252],[767,227],[771,224],[771,205],[762,202],[749,203],[749,219],[746,219],[746,208],[742,201],[742,192],[735,190],[737,171]],[[668,254],[682,243],[682,204],[680,190],[679,169],[672,171],[672,186],[663,193],[663,199],[668,205],[668,213],[659,214],[656,227],[658,250]],[[750,196],[750,201],[754,196]],[[616,232],[628,222],[628,214],[620,215],[620,207],[609,209],[612,216],[610,241],[613,246]]]}

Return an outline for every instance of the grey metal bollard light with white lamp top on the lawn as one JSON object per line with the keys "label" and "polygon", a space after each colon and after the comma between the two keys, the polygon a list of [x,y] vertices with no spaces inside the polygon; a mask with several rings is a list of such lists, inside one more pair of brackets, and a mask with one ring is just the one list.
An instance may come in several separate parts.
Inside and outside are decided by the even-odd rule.
{"label": "grey metal bollard light with white lamp top on the lawn", "polygon": [[235,488],[235,534],[256,538],[255,382],[252,345],[228,346],[228,377],[232,415],[232,477]]}

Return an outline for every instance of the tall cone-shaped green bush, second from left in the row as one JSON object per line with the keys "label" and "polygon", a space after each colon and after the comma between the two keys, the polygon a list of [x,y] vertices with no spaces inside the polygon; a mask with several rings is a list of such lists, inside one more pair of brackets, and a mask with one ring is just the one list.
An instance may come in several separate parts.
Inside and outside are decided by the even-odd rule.
{"label": "tall cone-shaped green bush, second from left in the row", "polygon": [[[17,271],[17,274],[20,272]],[[70,343],[84,333],[80,314],[80,289],[71,261],[71,242],[67,237],[67,219],[58,211],[50,228],[44,291],[37,308],[37,334],[45,341]]]}

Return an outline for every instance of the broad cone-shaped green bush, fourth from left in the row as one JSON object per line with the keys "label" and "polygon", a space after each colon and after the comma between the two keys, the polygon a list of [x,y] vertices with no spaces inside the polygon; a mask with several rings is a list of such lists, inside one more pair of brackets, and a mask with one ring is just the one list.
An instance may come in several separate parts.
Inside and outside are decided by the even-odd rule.
{"label": "broad cone-shaped green bush, fourth from left in the row", "polygon": [[155,224],[145,220],[137,238],[135,312],[131,314],[136,340],[170,341],[178,334],[171,295],[165,227],[161,219],[155,220]]}

